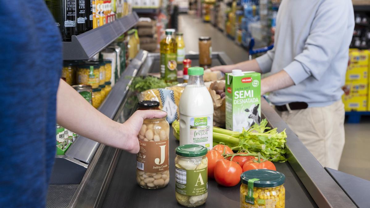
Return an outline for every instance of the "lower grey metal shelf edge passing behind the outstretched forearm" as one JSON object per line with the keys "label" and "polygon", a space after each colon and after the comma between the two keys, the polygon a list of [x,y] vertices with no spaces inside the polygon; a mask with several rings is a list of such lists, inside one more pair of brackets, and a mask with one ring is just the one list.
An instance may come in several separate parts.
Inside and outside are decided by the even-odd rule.
{"label": "lower grey metal shelf edge passing behind the outstretched forearm", "polygon": [[[122,105],[122,101],[128,93],[128,85],[132,78],[138,73],[139,67],[148,56],[147,51],[139,51],[137,56],[131,61],[127,68],[121,74],[121,78],[115,83],[112,91],[108,94],[105,101],[101,104],[98,110],[116,120],[116,115]],[[100,143],[92,141],[86,137],[78,136],[76,140],[68,148],[65,155],[56,155],[55,164],[51,174],[50,184],[80,184],[85,172],[94,164],[96,160],[100,160],[102,150],[106,154],[109,150],[111,154],[117,154],[115,148],[100,145]],[[95,159],[96,158],[96,159]],[[104,161],[109,162],[109,161]]]}

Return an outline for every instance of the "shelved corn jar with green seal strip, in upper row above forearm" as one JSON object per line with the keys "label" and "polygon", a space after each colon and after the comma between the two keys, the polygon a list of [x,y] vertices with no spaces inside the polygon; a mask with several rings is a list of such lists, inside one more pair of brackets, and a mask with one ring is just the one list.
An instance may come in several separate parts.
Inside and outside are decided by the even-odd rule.
{"label": "shelved corn jar with green seal strip, in upper row above forearm", "polygon": [[82,64],[77,70],[77,84],[91,85],[92,88],[99,87],[99,65],[97,64]]}

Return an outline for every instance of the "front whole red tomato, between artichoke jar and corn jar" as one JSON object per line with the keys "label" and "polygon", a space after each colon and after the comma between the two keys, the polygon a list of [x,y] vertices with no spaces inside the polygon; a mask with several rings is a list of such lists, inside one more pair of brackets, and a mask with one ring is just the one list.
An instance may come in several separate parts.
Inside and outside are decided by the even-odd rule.
{"label": "front whole red tomato, between artichoke jar and corn jar", "polygon": [[236,162],[222,159],[216,162],[214,175],[218,184],[232,187],[239,183],[242,168]]}

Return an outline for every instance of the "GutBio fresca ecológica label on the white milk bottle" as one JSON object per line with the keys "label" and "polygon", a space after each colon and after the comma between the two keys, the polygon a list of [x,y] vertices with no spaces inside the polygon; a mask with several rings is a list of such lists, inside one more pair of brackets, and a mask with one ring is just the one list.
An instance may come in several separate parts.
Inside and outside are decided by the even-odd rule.
{"label": "GutBio fresca ecol\u00f3gica label on the white milk bottle", "polygon": [[203,145],[210,148],[212,141],[211,117],[193,117],[190,118],[190,143]]}

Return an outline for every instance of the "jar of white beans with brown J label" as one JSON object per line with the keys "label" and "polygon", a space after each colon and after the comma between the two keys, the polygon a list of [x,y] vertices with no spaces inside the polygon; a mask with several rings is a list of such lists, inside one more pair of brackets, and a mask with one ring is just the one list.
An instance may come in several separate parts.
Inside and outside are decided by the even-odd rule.
{"label": "jar of white beans with brown J label", "polygon": [[169,124],[166,117],[145,119],[139,131],[136,180],[142,188],[163,188],[169,182]]}

